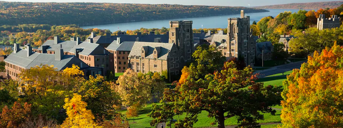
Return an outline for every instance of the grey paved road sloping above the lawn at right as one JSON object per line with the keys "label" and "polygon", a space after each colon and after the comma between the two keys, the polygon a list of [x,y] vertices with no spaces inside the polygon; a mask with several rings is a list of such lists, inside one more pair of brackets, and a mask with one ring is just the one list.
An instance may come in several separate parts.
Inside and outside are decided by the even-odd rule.
{"label": "grey paved road sloping above the lawn at right", "polygon": [[266,77],[268,75],[273,75],[273,74],[293,70],[295,68],[299,69],[301,67],[301,64],[304,62],[307,62],[307,60],[299,61],[299,62],[292,62],[292,63],[288,63],[285,65],[280,65],[280,66],[275,66],[275,67],[272,67],[270,69],[258,70],[258,71],[255,71],[254,73],[260,73],[259,77],[262,78],[262,77]]}

